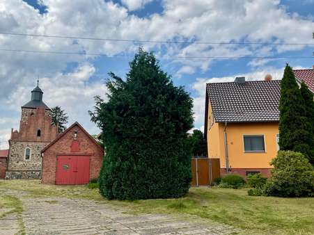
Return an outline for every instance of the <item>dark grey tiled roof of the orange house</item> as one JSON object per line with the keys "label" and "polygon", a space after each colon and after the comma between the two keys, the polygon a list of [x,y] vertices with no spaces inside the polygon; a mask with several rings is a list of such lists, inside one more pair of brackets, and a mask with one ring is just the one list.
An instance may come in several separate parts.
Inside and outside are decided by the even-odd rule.
{"label": "dark grey tiled roof of the orange house", "polygon": [[207,83],[216,122],[278,122],[280,81]]}

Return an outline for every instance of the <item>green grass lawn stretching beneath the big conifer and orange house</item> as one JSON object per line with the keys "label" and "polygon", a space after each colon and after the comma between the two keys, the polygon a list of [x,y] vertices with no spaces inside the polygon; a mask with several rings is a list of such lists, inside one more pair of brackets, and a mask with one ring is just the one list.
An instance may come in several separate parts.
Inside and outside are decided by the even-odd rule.
{"label": "green grass lawn stretching beneath the big conifer and orange house", "polygon": [[314,234],[314,198],[250,197],[247,189],[191,188],[174,200],[118,202],[103,199],[87,186],[47,186],[39,181],[0,181],[1,188],[34,197],[75,197],[128,206],[132,213],[179,213],[200,216],[244,229],[243,234]]}

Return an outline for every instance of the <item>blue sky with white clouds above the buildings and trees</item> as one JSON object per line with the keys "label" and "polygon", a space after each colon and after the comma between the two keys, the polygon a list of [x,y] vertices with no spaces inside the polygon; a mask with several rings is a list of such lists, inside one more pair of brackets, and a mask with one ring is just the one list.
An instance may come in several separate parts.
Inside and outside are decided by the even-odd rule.
{"label": "blue sky with white clouds above the buildings and trees", "polygon": [[313,32],[314,0],[1,0],[0,149],[8,147],[11,128],[19,129],[37,79],[44,102],[68,113],[68,126],[77,121],[99,133],[88,115],[93,97],[106,99],[108,73],[125,78],[143,47],[185,86],[194,128],[203,129],[206,83],[281,79],[286,63],[311,68]]}

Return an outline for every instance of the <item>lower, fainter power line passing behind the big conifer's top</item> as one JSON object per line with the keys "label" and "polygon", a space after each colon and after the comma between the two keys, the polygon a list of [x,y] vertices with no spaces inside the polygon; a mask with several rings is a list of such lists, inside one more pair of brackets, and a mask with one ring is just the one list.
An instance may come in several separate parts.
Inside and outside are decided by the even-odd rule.
{"label": "lower, fainter power line passing behind the big conifer's top", "polygon": [[[12,52],[26,52],[26,53],[38,53],[38,54],[61,54],[61,55],[79,55],[79,56],[107,56],[107,57],[123,57],[133,58],[134,55],[109,55],[109,54],[97,54],[97,53],[84,53],[84,52],[72,52],[72,51],[37,51],[37,50],[22,50],[22,49],[0,49],[0,51],[12,51]],[[201,60],[201,59],[313,59],[313,56],[164,56],[158,59],[164,60]]]}

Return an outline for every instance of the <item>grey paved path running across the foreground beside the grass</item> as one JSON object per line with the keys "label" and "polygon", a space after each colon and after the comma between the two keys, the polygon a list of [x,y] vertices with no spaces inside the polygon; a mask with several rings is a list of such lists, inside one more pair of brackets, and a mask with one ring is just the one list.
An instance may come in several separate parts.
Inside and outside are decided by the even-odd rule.
{"label": "grey paved path running across the foreground beside the grass", "polygon": [[[228,225],[205,223],[196,218],[134,215],[127,213],[127,209],[93,200],[28,197],[1,188],[0,193],[22,195],[19,199],[24,208],[22,221],[26,234],[235,234],[237,231]],[[0,234],[15,234],[17,225],[14,214],[0,218]]]}

